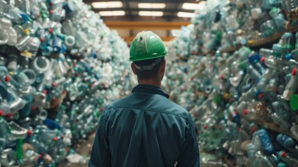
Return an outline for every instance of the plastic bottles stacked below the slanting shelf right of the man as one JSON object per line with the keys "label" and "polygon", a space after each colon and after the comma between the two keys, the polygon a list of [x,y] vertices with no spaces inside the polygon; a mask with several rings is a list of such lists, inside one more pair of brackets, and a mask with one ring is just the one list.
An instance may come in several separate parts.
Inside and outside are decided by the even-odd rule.
{"label": "plastic bottles stacked below the slanting shelf right of the man", "polygon": [[201,152],[237,166],[298,165],[295,41],[284,33],[272,49],[169,62],[165,88],[192,114]]}

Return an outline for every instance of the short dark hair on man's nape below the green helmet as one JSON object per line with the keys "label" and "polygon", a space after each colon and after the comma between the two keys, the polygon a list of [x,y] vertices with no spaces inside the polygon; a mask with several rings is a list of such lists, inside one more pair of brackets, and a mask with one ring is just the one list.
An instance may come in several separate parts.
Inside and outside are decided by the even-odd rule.
{"label": "short dark hair on man's nape below the green helmet", "polygon": [[[153,58],[145,61],[133,61],[135,65],[138,65],[140,67],[144,65],[151,65],[156,61],[158,58]],[[138,68],[135,68],[135,71],[137,72],[138,79],[151,79],[153,77],[156,77],[156,74],[158,73],[158,70],[160,69],[161,62],[165,60],[165,57],[161,57],[160,63],[155,65],[152,70],[138,70]]]}

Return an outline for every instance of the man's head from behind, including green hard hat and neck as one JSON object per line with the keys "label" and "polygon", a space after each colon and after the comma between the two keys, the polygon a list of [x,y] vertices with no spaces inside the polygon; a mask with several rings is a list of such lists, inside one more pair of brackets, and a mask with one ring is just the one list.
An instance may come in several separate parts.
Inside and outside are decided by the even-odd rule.
{"label": "man's head from behind, including green hard hat and neck", "polygon": [[158,35],[142,31],[131,42],[129,61],[138,81],[161,81],[165,72],[165,46]]}

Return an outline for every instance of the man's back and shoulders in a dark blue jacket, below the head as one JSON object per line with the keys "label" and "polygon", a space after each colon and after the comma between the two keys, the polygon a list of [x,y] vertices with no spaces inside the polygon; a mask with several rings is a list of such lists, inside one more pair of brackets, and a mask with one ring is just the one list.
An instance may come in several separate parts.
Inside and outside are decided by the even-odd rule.
{"label": "man's back and shoulders in a dark blue jacket, below the head", "polygon": [[[156,86],[136,86],[109,104],[99,122],[90,166],[199,166],[190,114]],[[95,143],[95,142],[94,142]],[[96,157],[96,156],[99,157]]]}

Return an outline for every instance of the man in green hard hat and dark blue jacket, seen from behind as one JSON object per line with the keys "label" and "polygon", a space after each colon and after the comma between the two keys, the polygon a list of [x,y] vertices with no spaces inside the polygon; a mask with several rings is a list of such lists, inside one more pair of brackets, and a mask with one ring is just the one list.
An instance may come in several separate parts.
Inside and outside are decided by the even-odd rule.
{"label": "man in green hard hat and dark blue jacket, seen from behind", "polygon": [[129,61],[138,77],[131,95],[106,106],[89,166],[199,166],[190,113],[160,88],[167,52],[158,35],[142,31],[131,43]]}

